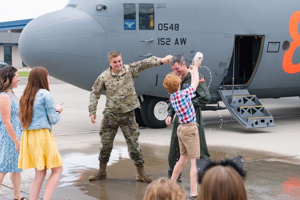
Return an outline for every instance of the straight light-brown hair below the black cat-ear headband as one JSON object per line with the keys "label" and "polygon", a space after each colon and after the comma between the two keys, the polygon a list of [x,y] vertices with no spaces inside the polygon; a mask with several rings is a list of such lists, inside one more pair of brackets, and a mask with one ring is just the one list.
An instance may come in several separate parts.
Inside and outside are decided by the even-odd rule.
{"label": "straight light-brown hair below the black cat-ear headband", "polygon": [[200,184],[198,200],[247,200],[244,180],[231,166],[214,166],[205,172]]}

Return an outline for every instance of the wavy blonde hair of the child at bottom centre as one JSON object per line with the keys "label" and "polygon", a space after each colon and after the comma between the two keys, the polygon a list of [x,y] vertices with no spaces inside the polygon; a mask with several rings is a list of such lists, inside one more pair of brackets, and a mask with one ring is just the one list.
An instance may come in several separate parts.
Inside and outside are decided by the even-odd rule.
{"label": "wavy blonde hair of the child at bottom centre", "polygon": [[153,181],[146,190],[143,200],[183,200],[185,193],[181,185],[167,178]]}

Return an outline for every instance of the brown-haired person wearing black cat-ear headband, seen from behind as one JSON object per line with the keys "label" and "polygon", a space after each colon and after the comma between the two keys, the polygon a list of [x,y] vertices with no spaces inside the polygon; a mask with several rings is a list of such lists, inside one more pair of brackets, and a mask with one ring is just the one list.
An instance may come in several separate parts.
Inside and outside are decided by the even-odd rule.
{"label": "brown-haired person wearing black cat-ear headband, seen from behind", "polygon": [[196,160],[199,193],[197,200],[248,200],[241,156],[212,162]]}

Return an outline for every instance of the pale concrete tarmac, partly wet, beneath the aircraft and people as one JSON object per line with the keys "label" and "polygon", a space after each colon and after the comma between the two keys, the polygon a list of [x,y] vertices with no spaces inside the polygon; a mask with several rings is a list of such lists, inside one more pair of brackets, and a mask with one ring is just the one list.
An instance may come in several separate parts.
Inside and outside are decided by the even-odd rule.
{"label": "pale concrete tarmac, partly wet, beneath the aircraft and people", "polygon": [[[24,87],[19,84],[14,92],[20,96]],[[88,91],[59,81],[50,85],[50,91],[55,103],[64,102],[61,121],[52,128],[64,160],[64,171],[52,199],[143,199],[149,184],[135,180],[136,168],[128,156],[120,130],[107,166],[107,178],[88,181],[88,177],[98,169],[98,130],[105,96],[99,100],[98,123],[93,125],[87,111]],[[261,101],[274,116],[277,126],[247,130],[227,110],[202,112],[211,159],[243,156],[249,199],[300,199],[300,99],[288,97]],[[169,127],[140,128],[145,172],[154,179],[167,177],[171,131]],[[189,169],[188,162],[182,171],[182,186],[187,195],[190,190]],[[46,179],[49,174],[50,170]],[[34,170],[24,170],[21,176],[22,195],[29,197]],[[46,180],[40,199],[45,185]],[[11,187],[9,175],[6,175],[0,187],[0,199],[13,199]]]}

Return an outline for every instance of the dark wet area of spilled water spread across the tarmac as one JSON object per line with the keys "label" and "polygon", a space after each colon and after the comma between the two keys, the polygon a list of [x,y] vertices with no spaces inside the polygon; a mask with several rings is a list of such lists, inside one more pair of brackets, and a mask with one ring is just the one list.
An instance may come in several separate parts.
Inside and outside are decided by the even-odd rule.
{"label": "dark wet area of spilled water spread across the tarmac", "polygon": [[[169,146],[141,144],[145,159],[145,172],[154,179],[167,177]],[[223,160],[242,155],[246,190],[249,199],[300,199],[300,165],[284,163],[271,158],[280,158],[284,155],[254,151],[251,149],[230,146],[208,146],[211,160]],[[107,166],[107,178],[90,182],[88,177],[98,170],[97,144],[91,145],[88,151],[61,152],[64,160],[64,171],[59,187],[74,185],[84,194],[96,199],[143,199],[144,192],[149,184],[135,180],[136,168],[129,158],[127,146],[124,142],[115,141],[114,148]],[[270,162],[272,161],[272,162]],[[190,162],[182,172],[182,186],[189,193]]]}

